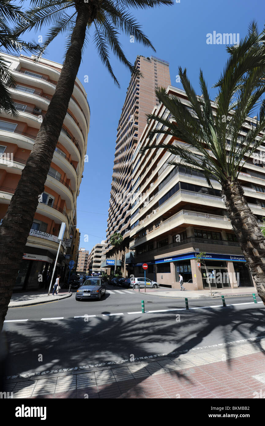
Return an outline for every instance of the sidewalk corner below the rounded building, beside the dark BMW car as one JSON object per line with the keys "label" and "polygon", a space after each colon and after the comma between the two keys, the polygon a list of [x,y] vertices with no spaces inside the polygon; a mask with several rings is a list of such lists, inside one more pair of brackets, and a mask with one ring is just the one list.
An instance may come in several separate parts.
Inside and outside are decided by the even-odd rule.
{"label": "sidewalk corner below the rounded building, beside the dark BMW car", "polygon": [[13,293],[11,300],[9,302],[9,308],[19,308],[20,306],[27,305],[38,305],[39,303],[54,302],[54,300],[66,299],[66,297],[71,297],[72,293],[66,293],[65,290],[59,290],[59,294],[52,291],[48,296],[48,289],[43,291],[34,291],[26,293]]}

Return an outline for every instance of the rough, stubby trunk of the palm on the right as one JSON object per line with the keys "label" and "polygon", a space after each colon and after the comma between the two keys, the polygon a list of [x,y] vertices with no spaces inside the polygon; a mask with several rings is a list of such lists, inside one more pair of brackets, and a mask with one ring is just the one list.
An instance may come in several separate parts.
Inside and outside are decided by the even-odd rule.
{"label": "rough, stubby trunk of the palm on the right", "polygon": [[244,253],[247,266],[265,305],[265,238],[256,217],[248,207],[238,180],[222,183],[228,217]]}

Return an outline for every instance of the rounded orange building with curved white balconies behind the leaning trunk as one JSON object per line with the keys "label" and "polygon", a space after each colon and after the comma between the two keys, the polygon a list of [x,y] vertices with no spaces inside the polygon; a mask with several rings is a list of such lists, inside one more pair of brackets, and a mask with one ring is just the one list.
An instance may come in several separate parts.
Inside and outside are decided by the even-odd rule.
{"label": "rounded orange building with curved white balconies behind the leaning trunk", "polygon": [[[47,59],[36,63],[33,56],[1,53],[1,57],[16,82],[15,88],[9,90],[19,113],[17,118],[3,111],[0,114],[0,219],[3,219],[54,94],[62,65]],[[84,169],[89,120],[86,93],[76,79],[15,289],[37,289],[47,285],[46,277],[52,273],[62,222],[66,223],[66,230],[56,273],[61,274],[62,280],[67,275],[67,265],[74,254],[73,245],[79,245],[76,202]]]}

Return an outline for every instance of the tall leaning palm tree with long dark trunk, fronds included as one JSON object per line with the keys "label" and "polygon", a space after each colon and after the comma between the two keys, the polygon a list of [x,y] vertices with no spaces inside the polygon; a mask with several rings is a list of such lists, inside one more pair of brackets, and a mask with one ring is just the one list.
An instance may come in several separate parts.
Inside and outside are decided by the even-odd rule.
{"label": "tall leaning palm tree with long dark trunk, fronds included", "polygon": [[54,95],[0,227],[0,329],[3,327],[39,196],[44,190],[44,183],[74,89],[85,39],[89,39],[89,32],[94,29],[93,41],[100,59],[119,86],[109,62],[110,50],[134,75],[140,75],[125,57],[118,39],[119,33],[122,32],[128,37],[132,36],[135,41],[154,49],[129,13],[129,8],[148,9],[174,4],[173,0],[129,0],[128,2],[117,0],[115,3],[112,0],[90,0],[89,2],[32,0],[31,3],[33,7],[26,13],[27,23],[23,21],[17,27],[17,37],[26,30],[39,31],[52,24],[48,30],[47,39],[43,43],[42,52],[58,34],[68,33],[70,37]]}

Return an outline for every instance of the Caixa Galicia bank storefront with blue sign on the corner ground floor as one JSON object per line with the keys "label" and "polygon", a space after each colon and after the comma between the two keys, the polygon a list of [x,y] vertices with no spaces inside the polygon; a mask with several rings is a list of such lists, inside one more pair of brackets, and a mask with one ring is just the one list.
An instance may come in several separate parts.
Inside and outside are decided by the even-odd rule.
{"label": "Caixa Galicia bank storefront with blue sign on the corner ground floor", "polygon": [[[199,252],[184,253],[147,261],[148,273],[155,271],[160,284],[178,287],[179,274],[189,283],[187,289],[253,287],[251,275],[244,256],[206,253],[197,261]],[[150,266],[149,266],[150,265]],[[142,262],[134,264],[134,273],[139,276]],[[177,284],[177,285],[176,285]]]}

